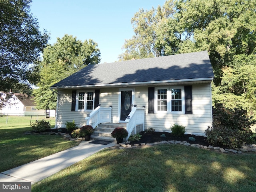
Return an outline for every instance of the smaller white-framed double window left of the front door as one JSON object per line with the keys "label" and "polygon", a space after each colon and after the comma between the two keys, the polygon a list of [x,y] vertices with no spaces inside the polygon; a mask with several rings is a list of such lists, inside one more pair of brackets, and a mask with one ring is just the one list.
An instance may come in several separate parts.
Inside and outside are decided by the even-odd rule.
{"label": "smaller white-framed double window left of the front door", "polygon": [[76,95],[76,110],[86,111],[94,109],[94,92],[78,91]]}

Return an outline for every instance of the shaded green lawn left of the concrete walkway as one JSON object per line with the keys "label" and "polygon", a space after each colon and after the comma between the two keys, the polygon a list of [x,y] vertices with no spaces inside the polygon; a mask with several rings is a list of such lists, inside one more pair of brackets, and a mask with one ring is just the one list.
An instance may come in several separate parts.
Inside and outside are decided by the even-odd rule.
{"label": "shaded green lawn left of the concrete walkway", "polygon": [[25,135],[28,130],[32,128],[0,128],[0,172],[78,145],[57,135]]}

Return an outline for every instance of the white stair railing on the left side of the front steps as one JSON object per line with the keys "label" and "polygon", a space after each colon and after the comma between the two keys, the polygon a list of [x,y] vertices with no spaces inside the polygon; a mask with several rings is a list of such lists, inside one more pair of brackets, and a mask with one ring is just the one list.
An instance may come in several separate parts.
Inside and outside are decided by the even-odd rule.
{"label": "white stair railing on the left side of the front steps", "polygon": [[95,128],[100,123],[110,123],[111,112],[112,106],[109,106],[109,108],[103,108],[99,105],[90,114],[87,115],[87,117],[85,118],[86,124]]}

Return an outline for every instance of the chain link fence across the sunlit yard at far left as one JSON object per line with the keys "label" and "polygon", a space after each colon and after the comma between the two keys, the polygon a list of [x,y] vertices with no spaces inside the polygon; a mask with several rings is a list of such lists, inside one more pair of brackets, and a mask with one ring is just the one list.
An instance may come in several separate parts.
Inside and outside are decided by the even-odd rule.
{"label": "chain link fence across the sunlit yard at far left", "polygon": [[0,127],[14,127],[14,126],[30,126],[33,122],[40,120],[50,121],[50,124],[55,124],[55,117],[46,118],[46,115],[15,115],[15,114],[0,114]]}

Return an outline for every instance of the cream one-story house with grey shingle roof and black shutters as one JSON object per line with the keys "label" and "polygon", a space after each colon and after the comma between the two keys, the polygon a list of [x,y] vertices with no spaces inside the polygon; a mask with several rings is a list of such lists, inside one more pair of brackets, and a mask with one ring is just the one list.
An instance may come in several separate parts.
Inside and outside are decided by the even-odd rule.
{"label": "cream one-story house with grey shingle roof and black shutters", "polygon": [[204,135],[213,77],[207,51],[89,65],[51,87],[58,90],[56,128],[111,122],[130,135],[179,124],[186,134]]}

